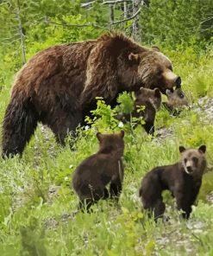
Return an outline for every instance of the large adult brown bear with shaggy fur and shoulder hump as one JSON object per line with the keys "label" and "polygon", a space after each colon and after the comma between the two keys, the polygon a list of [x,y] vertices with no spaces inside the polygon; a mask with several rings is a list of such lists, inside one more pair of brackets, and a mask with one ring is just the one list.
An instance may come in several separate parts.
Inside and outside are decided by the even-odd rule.
{"label": "large adult brown bear with shaggy fur and shoulder hump", "polygon": [[122,34],[53,46],[35,54],[16,76],[3,119],[3,156],[22,154],[40,121],[60,143],[103,97],[115,106],[122,91],[141,86],[162,93],[179,86],[158,48],[142,48]]}

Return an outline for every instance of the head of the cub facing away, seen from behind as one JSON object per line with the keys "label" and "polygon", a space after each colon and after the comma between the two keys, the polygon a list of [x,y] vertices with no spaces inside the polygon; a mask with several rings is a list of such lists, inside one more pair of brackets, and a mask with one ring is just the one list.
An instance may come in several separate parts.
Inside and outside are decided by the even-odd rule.
{"label": "head of the cub facing away, seen from behind", "polygon": [[97,132],[97,139],[99,141],[99,153],[116,154],[120,158],[124,151],[124,131],[115,134],[103,134]]}

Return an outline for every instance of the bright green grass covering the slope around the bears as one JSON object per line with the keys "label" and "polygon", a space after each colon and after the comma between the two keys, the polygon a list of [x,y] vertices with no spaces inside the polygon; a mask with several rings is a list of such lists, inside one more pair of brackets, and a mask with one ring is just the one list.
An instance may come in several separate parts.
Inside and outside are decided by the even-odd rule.
{"label": "bright green grass covering the slope around the bears", "polygon": [[[202,119],[203,112],[196,112],[197,99],[213,95],[213,61],[211,53],[168,55],[194,105],[179,117],[171,117],[163,109],[158,112],[156,128],[172,132],[166,138],[151,140],[140,127],[133,137],[126,128],[125,178],[117,205],[100,202],[92,214],[74,214],[78,198],[70,186],[72,172],[97,150],[96,127],[80,131],[71,151],[68,145],[61,148],[51,131],[44,132],[39,126],[22,159],[0,159],[1,255],[213,255],[213,205],[206,200],[213,190],[213,127]],[[1,121],[10,81],[11,76],[0,93]],[[104,127],[101,122],[97,123],[99,129]],[[68,140],[73,143],[72,138]],[[141,211],[141,178],[157,165],[178,161],[180,144],[206,144],[209,172],[189,221],[179,217],[172,199],[165,195],[171,221],[155,223]],[[58,190],[50,193],[50,188]]]}

